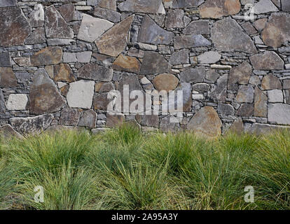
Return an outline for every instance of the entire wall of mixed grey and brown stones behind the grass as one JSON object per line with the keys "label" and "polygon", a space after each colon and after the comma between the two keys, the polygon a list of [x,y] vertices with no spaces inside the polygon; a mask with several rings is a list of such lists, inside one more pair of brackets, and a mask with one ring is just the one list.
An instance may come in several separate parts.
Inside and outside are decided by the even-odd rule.
{"label": "entire wall of mixed grey and brown stones behind the grass", "polygon": [[[0,130],[287,127],[289,12],[289,0],[1,0]],[[108,113],[125,85],[183,91],[182,118]]]}

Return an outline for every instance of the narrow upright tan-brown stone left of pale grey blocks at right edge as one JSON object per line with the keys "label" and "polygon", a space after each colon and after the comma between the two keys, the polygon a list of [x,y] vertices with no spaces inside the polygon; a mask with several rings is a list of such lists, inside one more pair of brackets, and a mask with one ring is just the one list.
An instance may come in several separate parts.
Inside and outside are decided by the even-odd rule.
{"label": "narrow upright tan-brown stone left of pale grey blocks at right edge", "polygon": [[256,86],[254,94],[254,116],[266,118],[267,104],[268,97],[259,89],[259,87]]}

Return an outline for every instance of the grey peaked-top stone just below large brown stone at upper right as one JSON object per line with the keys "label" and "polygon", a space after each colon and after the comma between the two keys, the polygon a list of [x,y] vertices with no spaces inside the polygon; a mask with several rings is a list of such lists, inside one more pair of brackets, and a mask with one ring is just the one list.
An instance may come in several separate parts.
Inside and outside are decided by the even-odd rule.
{"label": "grey peaked-top stone just below large brown stone at upper right", "polygon": [[274,51],[265,51],[250,57],[251,64],[256,70],[279,70],[284,69],[284,61]]}

